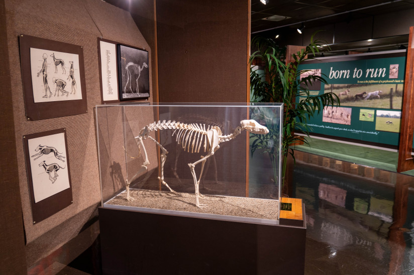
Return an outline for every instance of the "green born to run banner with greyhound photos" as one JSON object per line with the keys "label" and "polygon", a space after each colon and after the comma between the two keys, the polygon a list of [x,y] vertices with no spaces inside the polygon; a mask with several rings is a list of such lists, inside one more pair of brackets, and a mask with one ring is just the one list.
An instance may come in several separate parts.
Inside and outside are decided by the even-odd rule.
{"label": "green born to run banner with greyhound photos", "polygon": [[[311,95],[333,92],[340,107],[311,118],[311,133],[398,145],[405,50],[309,60],[299,66],[329,83],[313,83]],[[303,77],[302,76],[302,77]],[[300,100],[297,98],[296,100]]]}

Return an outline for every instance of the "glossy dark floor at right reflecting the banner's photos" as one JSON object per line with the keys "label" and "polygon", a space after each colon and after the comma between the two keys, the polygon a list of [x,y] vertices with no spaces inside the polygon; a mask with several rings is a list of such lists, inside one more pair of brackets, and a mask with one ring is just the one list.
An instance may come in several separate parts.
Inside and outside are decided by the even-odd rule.
{"label": "glossy dark floor at right reflecting the banner's photos", "polygon": [[305,274],[414,274],[414,177],[390,177],[395,184],[296,164],[293,197],[306,207]]}

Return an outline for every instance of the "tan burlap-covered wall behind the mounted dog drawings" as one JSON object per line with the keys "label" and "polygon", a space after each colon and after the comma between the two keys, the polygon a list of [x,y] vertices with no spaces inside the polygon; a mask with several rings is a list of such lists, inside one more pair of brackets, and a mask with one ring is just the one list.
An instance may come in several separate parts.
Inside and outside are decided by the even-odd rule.
{"label": "tan burlap-covered wall behind the mounted dog drawings", "polygon": [[[128,12],[100,0],[6,0],[5,3],[17,172],[28,245],[27,260],[28,265],[31,265],[76,236],[82,226],[95,215],[96,206],[100,203],[94,121],[94,106],[100,104],[97,37],[145,48],[149,52],[150,49]],[[40,121],[26,120],[18,43],[20,34],[83,47],[88,106],[86,114]],[[150,79],[151,74],[150,68]],[[150,85],[150,101],[152,98]],[[22,137],[58,128],[66,128],[67,133],[73,204],[38,224],[33,224]],[[47,238],[44,237],[46,235]],[[31,246],[32,243],[36,245]]]}

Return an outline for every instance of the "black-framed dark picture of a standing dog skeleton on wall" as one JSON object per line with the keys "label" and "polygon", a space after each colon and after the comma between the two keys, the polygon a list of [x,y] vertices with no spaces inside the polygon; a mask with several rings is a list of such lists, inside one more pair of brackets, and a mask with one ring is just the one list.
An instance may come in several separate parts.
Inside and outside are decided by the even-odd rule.
{"label": "black-framed dark picture of a standing dog skeleton on wall", "polygon": [[117,45],[119,98],[143,99],[150,96],[148,52],[125,45]]}

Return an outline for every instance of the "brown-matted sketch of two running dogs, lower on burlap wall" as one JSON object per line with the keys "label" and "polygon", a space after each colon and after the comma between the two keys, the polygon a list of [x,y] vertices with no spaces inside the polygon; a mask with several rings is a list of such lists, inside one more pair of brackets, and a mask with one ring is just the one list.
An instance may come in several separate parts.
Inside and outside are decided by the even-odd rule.
{"label": "brown-matted sketch of two running dogs, lower on burlap wall", "polygon": [[23,136],[33,223],[72,203],[66,130]]}

